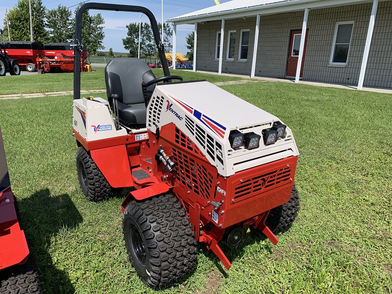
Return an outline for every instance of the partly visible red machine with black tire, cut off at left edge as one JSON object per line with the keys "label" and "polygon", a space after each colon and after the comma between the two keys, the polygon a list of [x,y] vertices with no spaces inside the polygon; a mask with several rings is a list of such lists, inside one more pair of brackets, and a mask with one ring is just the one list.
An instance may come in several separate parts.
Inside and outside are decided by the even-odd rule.
{"label": "partly visible red machine with black tire, cut off at left edge", "polygon": [[0,128],[0,293],[41,293],[21,230]]}

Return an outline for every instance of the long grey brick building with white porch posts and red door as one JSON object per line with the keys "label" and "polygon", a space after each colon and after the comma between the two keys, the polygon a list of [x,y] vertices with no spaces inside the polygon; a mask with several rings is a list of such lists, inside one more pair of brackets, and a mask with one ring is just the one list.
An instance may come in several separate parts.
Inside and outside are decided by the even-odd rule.
{"label": "long grey brick building with white porch posts and red door", "polygon": [[232,0],[168,22],[174,52],[195,24],[194,71],[392,88],[391,0]]}

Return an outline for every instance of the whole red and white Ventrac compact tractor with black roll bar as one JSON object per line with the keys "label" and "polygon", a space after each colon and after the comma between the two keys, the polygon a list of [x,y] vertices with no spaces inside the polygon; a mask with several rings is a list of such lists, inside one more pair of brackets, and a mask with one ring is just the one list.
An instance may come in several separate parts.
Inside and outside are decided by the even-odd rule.
{"label": "whole red and white Ventrac compact tractor with black roll bar", "polygon": [[[165,76],[156,78],[140,59],[114,58],[105,68],[107,100],[80,98],[78,50],[86,9],[146,14]],[[299,207],[291,129],[205,80],[170,75],[147,8],[85,3],[75,27],[77,176],[91,201],[135,188],[123,201],[122,227],[142,281],[159,288],[182,278],[195,266],[200,243],[229,269],[220,242],[242,246],[251,229],[276,245],[274,233],[290,226]]]}

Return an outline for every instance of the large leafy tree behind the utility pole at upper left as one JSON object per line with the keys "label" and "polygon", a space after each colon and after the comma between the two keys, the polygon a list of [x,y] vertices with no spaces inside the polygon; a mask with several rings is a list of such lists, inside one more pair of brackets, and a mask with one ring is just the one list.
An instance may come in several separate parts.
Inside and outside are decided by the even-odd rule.
{"label": "large leafy tree behind the utility pole at upper left", "polygon": [[[34,41],[47,43],[49,41],[48,31],[45,30],[46,8],[42,0],[31,0],[31,17],[33,23]],[[30,16],[28,0],[18,0],[16,5],[8,12],[9,32],[12,41],[30,41]],[[4,27],[7,27],[5,17],[3,20]],[[3,35],[6,30],[3,30]],[[8,32],[7,32],[8,34]],[[8,36],[2,36],[4,40]]]}

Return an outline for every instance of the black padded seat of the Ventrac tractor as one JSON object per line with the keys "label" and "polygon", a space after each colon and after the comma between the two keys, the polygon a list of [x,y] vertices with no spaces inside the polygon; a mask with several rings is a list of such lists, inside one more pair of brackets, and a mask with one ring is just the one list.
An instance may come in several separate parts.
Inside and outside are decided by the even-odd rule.
{"label": "black padded seat of the Ventrac tractor", "polygon": [[[149,66],[139,58],[113,58],[105,68],[106,94],[113,109],[113,94],[117,94],[119,121],[126,126],[146,124],[147,109],[142,83],[155,79]],[[148,88],[153,92],[155,84]],[[147,94],[151,96],[150,94]],[[150,97],[147,97],[149,99]]]}

